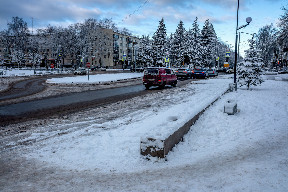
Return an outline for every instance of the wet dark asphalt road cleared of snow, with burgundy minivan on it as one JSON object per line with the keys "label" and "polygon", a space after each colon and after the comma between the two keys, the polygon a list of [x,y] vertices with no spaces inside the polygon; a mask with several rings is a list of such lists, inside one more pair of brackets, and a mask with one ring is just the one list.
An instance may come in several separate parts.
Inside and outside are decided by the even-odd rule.
{"label": "wet dark asphalt road cleared of snow, with burgundy minivan on it", "polygon": [[[94,73],[96,73],[96,71]],[[57,77],[63,76],[71,75],[59,75]],[[14,83],[11,89],[0,93],[0,99],[9,101],[9,99],[12,98],[19,98],[43,91],[45,90],[46,86],[43,85],[42,82],[48,78],[51,77],[39,76],[33,79]],[[200,79],[179,79],[177,86],[183,86],[188,82],[195,80]],[[165,91],[168,91],[169,89],[173,89],[173,87],[166,86]],[[135,80],[133,85],[130,86],[118,87],[117,84],[115,84],[113,88],[109,89],[66,93],[26,102],[10,103],[0,107],[0,126],[25,122],[29,121],[30,119],[49,118],[52,116],[70,114],[81,110],[88,110],[89,108],[100,107],[109,103],[137,97],[139,95],[155,93],[157,91],[162,90],[156,86],[146,90],[142,84],[142,80],[138,79]]]}

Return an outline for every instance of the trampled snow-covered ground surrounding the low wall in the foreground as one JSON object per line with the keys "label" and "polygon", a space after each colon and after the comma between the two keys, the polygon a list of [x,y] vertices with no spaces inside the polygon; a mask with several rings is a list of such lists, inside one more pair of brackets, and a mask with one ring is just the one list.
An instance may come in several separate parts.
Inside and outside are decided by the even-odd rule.
{"label": "trampled snow-covered ground surrounding the low wall in the foreground", "polygon": [[[288,191],[288,76],[278,76],[223,95],[166,161],[141,157],[140,137],[166,137],[225,92],[233,75],[3,137],[0,191]],[[226,99],[238,100],[235,115],[223,113]]]}

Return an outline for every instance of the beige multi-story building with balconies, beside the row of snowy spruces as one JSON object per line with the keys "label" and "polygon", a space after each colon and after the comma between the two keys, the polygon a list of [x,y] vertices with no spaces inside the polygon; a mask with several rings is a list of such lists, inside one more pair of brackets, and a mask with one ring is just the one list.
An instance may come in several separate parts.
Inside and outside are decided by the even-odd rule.
{"label": "beige multi-story building with balconies, beside the row of snowy spruces", "polygon": [[[137,48],[141,36],[105,28],[101,28],[100,31],[101,33],[99,34],[101,34],[101,36],[103,35],[104,38],[98,37],[95,46],[96,49],[90,52],[90,55],[92,55],[92,57],[89,58],[91,66],[100,67],[101,65],[101,67],[107,66],[110,69],[122,69],[125,63],[126,68],[138,65]],[[103,48],[97,47],[99,43],[103,45]],[[99,52],[101,52],[101,54],[99,54]],[[123,58],[125,54],[126,58]],[[101,59],[99,59],[99,57],[101,57]]]}

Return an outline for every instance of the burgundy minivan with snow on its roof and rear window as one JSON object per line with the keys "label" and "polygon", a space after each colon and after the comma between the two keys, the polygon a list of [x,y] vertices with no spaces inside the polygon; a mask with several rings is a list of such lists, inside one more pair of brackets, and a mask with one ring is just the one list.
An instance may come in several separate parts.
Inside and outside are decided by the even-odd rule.
{"label": "burgundy minivan with snow on its roof and rear window", "polygon": [[175,87],[177,76],[173,70],[167,67],[147,67],[144,71],[143,85],[146,89],[151,86],[159,86],[165,89],[166,85]]}

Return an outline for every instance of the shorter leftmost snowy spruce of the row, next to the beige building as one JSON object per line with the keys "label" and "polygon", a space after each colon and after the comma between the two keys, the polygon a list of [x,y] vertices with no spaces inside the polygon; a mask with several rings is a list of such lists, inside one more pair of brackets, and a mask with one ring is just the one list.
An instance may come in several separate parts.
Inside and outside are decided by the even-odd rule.
{"label": "shorter leftmost snowy spruce of the row, next to the beige building", "polygon": [[139,42],[140,46],[138,47],[137,59],[138,62],[143,63],[145,66],[152,65],[152,49],[151,49],[151,41],[149,39],[149,35],[142,35],[142,38]]}

